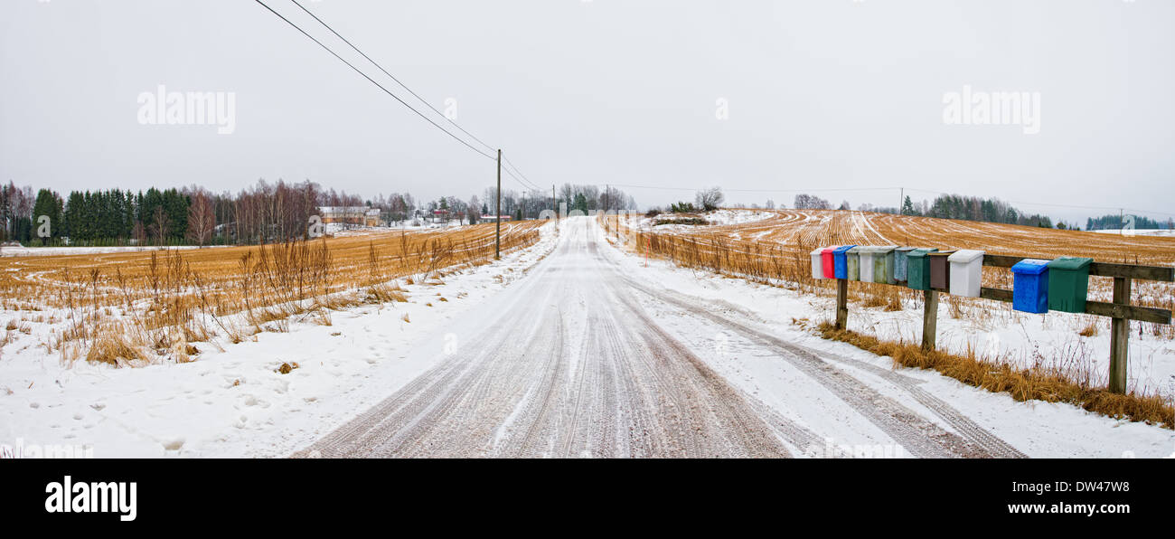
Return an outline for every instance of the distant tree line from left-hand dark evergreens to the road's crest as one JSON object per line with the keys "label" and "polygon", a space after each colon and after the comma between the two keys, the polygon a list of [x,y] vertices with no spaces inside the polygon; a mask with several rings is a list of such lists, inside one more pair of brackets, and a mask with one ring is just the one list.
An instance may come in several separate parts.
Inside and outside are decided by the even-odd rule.
{"label": "distant tree line from left-hand dark evergreens to the road's crest", "polygon": [[[65,197],[42,188],[0,186],[0,240],[25,245],[256,245],[306,238],[309,221],[323,206],[376,208],[389,225],[422,219],[476,224],[491,215],[497,191],[462,200],[442,197],[417,205],[411,194],[380,194],[364,200],[316,182],[282,180],[256,184],[237,193],[212,193],[193,185],[182,188],[133,192],[122,189],[74,191]],[[536,219],[551,209],[551,192],[503,191],[502,213],[516,220]],[[719,193],[720,194],[720,193]],[[617,188],[566,184],[556,199],[568,211],[636,209],[632,197]],[[41,215],[48,237],[38,234]]]}

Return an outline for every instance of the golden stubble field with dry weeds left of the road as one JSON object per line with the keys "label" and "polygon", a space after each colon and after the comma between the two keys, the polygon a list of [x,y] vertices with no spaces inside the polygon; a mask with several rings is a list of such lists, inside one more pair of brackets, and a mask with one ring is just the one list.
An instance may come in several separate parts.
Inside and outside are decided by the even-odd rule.
{"label": "golden stubble field with dry weeds left of the road", "polygon": [[[532,245],[544,222],[508,224],[502,249]],[[0,305],[59,312],[66,324],[53,327],[45,345],[65,360],[186,361],[199,354],[190,342],[241,342],[287,331],[291,318],[330,325],[330,310],[405,301],[401,279],[439,282],[445,272],[492,257],[494,225],[476,225],[268,246],[2,258]]]}

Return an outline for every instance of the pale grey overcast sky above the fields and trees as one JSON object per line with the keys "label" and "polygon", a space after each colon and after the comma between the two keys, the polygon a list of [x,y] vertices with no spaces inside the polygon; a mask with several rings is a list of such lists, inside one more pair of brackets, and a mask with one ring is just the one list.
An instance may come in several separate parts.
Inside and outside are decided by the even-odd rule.
{"label": "pale grey overcast sky above the fields and trees", "polygon": [[[266,2],[427,111],[289,0]],[[303,5],[436,108],[456,100],[462,127],[546,188],[626,188],[642,205],[692,199],[669,187],[810,189],[857,207],[899,194],[815,189],[905,186],[1081,225],[1109,212],[1033,205],[1175,214],[1173,1]],[[235,93],[235,131],[141,125],[139,95],[159,85]],[[944,95],[965,85],[1039,92],[1039,134],[947,125]],[[65,193],[258,178],[465,199],[495,165],[255,1],[0,4],[0,180]]]}

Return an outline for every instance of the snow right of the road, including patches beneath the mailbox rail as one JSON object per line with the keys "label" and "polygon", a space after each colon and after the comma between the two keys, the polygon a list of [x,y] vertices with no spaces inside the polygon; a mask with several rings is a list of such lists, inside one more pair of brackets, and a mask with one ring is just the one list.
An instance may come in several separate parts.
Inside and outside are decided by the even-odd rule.
{"label": "snow right of the road, including patches beneath the mailbox rail", "polygon": [[[612,241],[611,238],[609,241]],[[887,384],[873,372],[892,371],[893,362],[889,358],[865,352],[845,342],[822,339],[805,328],[803,324],[794,322],[808,319],[814,325],[819,320],[834,318],[832,298],[818,298],[787,288],[696,272],[663,260],[646,261],[642,257],[622,254],[618,249],[611,251],[610,255],[622,265],[622,272],[626,275],[650,286],[700,300],[710,305],[716,314],[767,328],[772,335],[781,340],[819,351],[822,358],[867,381],[868,387],[904,402],[908,400],[908,394],[904,394],[904,391]],[[714,351],[706,355],[707,362],[747,393],[771,404],[791,400],[787,395],[797,391],[805,393],[813,391],[797,387],[795,374],[781,365],[777,354],[765,351],[761,344],[728,330],[705,328],[698,320],[691,320],[689,317],[669,315],[672,310],[658,301],[644,299],[642,302],[645,308],[654,313],[659,322],[684,341],[692,344],[694,350]],[[967,321],[951,319],[947,311],[949,310],[940,305],[938,340],[940,347],[956,348],[965,346],[967,341],[987,342],[987,331],[971,326]],[[1029,351],[1028,354],[1032,354],[1033,350],[1063,347],[1075,334],[1062,327],[1066,322],[1055,320],[1063,313],[1055,314],[1058,317],[1054,317],[1052,326],[1043,325],[1040,319],[1030,320],[1027,317],[1022,321],[1003,325],[995,331],[995,334],[1001,335],[999,346],[1005,351],[1021,347]],[[915,321],[918,330],[914,330]],[[920,331],[920,311],[884,313],[880,310],[850,307],[848,326],[852,330],[873,330],[882,337],[901,335],[909,340],[912,332]],[[1108,341],[1104,333],[1102,337],[1082,338],[1082,340],[1088,341],[1086,346],[1089,346],[1099,359],[1103,355],[1108,358],[1106,350],[1108,345],[1102,342]],[[1160,381],[1170,384],[1169,377],[1175,373],[1175,361],[1173,361],[1175,351],[1171,342],[1157,342],[1146,337],[1140,339],[1135,333],[1132,335],[1130,354],[1132,358],[1136,358],[1132,361],[1132,377],[1142,375],[1155,384]],[[1175,457],[1175,432],[1170,430],[1115,420],[1067,404],[1018,402],[1007,394],[968,386],[933,371],[901,368],[897,372],[915,378],[925,391],[948,401],[1029,457]],[[812,402],[813,406],[820,406],[818,401]],[[914,408],[913,404],[909,405]],[[833,432],[837,432],[837,428],[852,430],[845,424],[844,415],[825,413],[822,417],[833,427]],[[833,438],[842,440],[846,437],[851,438],[847,433]]]}

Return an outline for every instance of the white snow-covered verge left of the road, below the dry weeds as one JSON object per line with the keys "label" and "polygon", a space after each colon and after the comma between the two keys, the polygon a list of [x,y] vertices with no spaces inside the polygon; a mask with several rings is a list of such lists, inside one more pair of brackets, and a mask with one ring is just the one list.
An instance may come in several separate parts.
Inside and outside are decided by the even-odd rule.
{"label": "white snow-covered verge left of the road, below the dry weeds", "polygon": [[[331,313],[331,325],[290,321],[288,333],[208,350],[189,364],[113,368],[60,364],[35,346],[0,358],[0,446],[94,457],[282,457],[303,447],[431,367],[461,353],[449,326],[556,245],[405,286],[407,304]],[[287,374],[282,364],[297,364]],[[0,448],[2,451],[2,448]]]}

